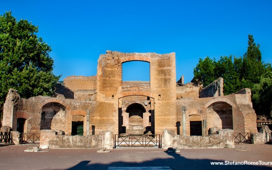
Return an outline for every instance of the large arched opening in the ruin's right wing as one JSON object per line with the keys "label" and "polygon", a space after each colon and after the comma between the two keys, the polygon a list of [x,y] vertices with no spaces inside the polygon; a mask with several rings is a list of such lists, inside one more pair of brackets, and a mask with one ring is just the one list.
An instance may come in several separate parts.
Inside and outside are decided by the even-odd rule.
{"label": "large arched opening in the ruin's right wing", "polygon": [[232,106],[227,102],[214,102],[208,106],[208,125],[219,129],[233,129]]}

